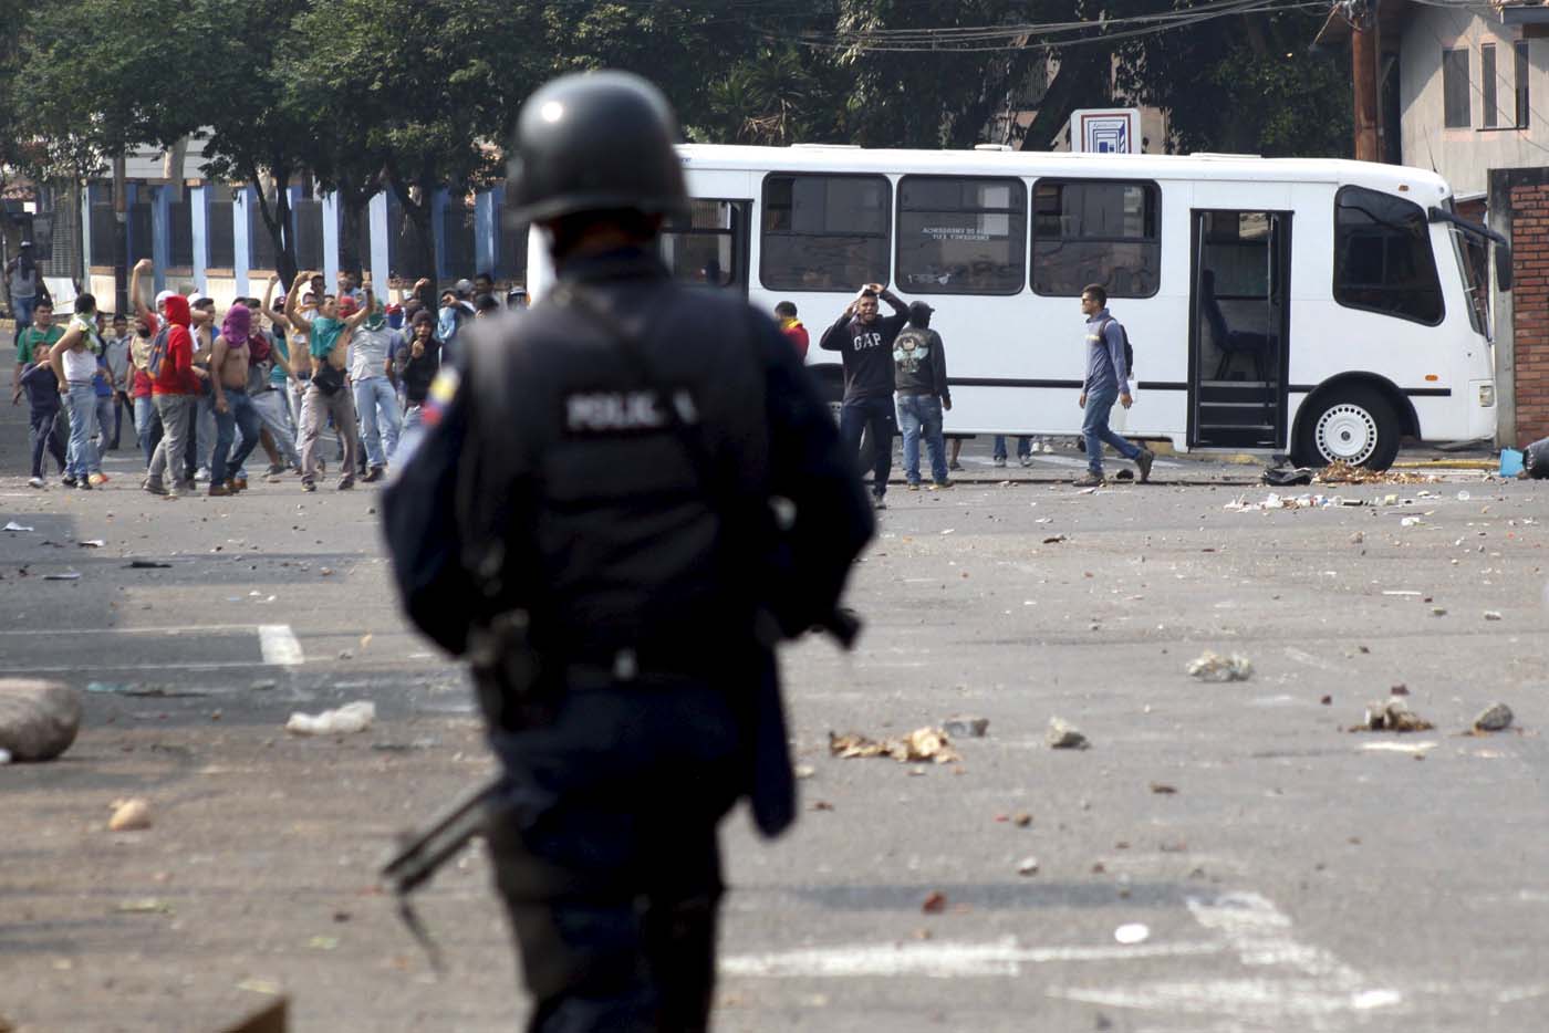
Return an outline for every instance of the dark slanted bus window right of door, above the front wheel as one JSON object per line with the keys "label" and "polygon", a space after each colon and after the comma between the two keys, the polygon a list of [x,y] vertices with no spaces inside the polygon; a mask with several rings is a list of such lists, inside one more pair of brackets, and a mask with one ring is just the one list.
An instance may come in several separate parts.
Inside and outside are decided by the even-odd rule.
{"label": "dark slanted bus window right of door, above the front wheel", "polygon": [[1420,206],[1358,186],[1341,189],[1334,206],[1334,300],[1439,324],[1442,288]]}

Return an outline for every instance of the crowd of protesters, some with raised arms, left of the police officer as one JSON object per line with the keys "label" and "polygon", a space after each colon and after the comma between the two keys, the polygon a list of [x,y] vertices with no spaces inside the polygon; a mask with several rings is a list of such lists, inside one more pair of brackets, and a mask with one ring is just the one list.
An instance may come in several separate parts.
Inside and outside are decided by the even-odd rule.
{"label": "crowd of protesters, some with raised arms, left of the police officer", "polygon": [[139,486],[156,496],[246,491],[259,449],[270,483],[296,475],[316,491],[325,454],[341,491],[381,480],[463,325],[520,304],[496,299],[486,274],[459,280],[432,308],[420,300],[429,280],[389,299],[369,276],[341,273],[328,291],[304,271],[283,291],[271,276],[262,299],[225,311],[201,291],[161,291],[147,305],[141,280],[153,271],[149,259],[135,265],[132,313],[107,316],[91,294],[68,319],[46,294],[28,299],[25,319],[15,313],[12,404],[29,409],[33,488],[48,486],[48,458],[67,488],[107,483],[102,454],[125,429],[144,463]]}

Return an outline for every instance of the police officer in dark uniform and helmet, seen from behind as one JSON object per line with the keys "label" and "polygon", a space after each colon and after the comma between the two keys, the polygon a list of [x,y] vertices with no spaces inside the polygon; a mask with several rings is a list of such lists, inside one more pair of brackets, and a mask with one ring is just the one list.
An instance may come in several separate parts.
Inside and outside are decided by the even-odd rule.
{"label": "police officer in dark uniform and helmet, seen from behind", "polygon": [[489,847],[530,1030],[703,1030],[716,829],[795,816],[774,643],[836,615],[871,508],[779,330],[675,285],[677,124],[565,76],[516,130],[558,282],[480,321],[384,499],[410,618],[471,660],[507,810]]}

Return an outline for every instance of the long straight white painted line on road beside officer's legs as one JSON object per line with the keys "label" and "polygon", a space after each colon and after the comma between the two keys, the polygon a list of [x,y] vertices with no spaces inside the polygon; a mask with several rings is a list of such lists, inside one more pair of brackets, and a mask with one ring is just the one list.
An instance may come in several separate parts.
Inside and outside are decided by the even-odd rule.
{"label": "long straight white painted line on road beside officer's legs", "polygon": [[1022,965],[1053,962],[1125,962],[1151,957],[1219,954],[1219,943],[1148,943],[1142,946],[1018,946],[1015,937],[991,943],[857,943],[846,946],[739,954],[720,962],[723,976],[774,979],[843,979],[928,976],[1018,976]]}

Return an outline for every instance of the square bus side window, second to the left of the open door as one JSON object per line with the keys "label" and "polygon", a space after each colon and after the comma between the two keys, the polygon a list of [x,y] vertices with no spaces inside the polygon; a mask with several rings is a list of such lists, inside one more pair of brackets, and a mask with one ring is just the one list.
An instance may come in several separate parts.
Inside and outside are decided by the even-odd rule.
{"label": "square bus side window, second to the left of the open door", "polygon": [[911,294],[1021,291],[1027,187],[1021,180],[900,180],[897,279]]}

